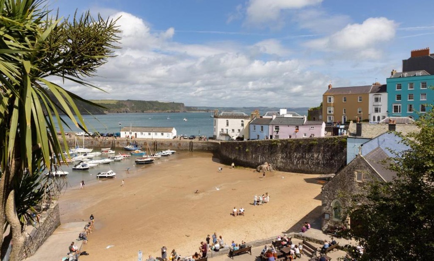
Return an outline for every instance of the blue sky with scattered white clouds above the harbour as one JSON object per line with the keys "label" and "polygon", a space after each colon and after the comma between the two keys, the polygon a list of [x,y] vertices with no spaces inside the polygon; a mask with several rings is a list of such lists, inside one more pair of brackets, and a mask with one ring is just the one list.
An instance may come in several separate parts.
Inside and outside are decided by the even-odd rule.
{"label": "blue sky with scattered white clouds above the harbour", "polygon": [[[85,99],[316,107],[327,86],[385,84],[431,47],[430,0],[49,0],[67,17],[119,18],[121,49]],[[430,46],[431,45],[431,46]]]}

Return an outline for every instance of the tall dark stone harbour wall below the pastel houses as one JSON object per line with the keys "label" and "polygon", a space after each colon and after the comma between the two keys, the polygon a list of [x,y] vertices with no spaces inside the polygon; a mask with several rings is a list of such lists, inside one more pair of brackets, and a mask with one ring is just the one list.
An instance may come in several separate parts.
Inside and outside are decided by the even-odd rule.
{"label": "tall dark stone harbour wall below the pastel houses", "polygon": [[279,171],[336,173],[346,164],[347,138],[344,136],[303,139],[267,139],[221,142],[222,163],[256,168],[264,162]]}

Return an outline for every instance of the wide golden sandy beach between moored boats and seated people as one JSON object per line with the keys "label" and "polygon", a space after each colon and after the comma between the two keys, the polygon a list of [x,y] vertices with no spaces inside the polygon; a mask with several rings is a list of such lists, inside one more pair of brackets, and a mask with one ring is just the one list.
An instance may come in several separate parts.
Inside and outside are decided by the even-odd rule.
{"label": "wide golden sandy beach between moored boats and seated people", "polygon": [[[123,172],[61,196],[62,224],[95,216],[83,245],[90,255],[80,260],[137,260],[139,250],[146,260],[160,257],[163,245],[190,256],[214,232],[230,245],[298,231],[321,205],[320,175],[273,171],[262,178],[250,168],[222,165],[207,152],[177,152],[167,162]],[[270,202],[253,206],[253,196],[265,192]],[[233,217],[234,206],[243,207],[245,216]]]}

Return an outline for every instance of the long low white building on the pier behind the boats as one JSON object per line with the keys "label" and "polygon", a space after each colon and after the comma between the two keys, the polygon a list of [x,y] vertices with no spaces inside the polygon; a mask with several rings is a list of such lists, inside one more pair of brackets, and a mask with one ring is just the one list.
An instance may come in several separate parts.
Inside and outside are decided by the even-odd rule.
{"label": "long low white building on the pier behind the boats", "polygon": [[124,127],[121,129],[121,138],[172,139],[176,135],[173,127]]}

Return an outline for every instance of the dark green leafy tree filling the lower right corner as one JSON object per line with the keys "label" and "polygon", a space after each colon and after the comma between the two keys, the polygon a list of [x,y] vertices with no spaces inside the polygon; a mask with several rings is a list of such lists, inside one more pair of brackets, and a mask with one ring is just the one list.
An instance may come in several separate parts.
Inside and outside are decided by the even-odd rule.
{"label": "dark green leafy tree filling the lower right corner", "polygon": [[[374,182],[348,209],[360,227],[346,236],[365,248],[363,260],[431,260],[434,257],[434,111],[420,114],[418,132],[397,133],[411,149],[395,153],[392,182]],[[363,228],[364,233],[356,233]]]}

